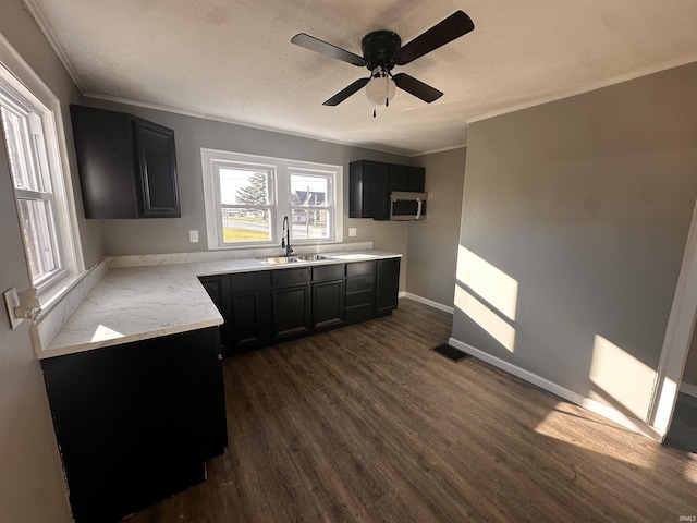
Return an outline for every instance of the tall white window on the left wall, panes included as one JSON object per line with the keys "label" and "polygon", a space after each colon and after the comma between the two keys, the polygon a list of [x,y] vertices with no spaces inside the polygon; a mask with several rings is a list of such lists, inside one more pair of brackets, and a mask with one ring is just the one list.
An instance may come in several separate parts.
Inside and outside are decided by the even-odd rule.
{"label": "tall white window on the left wall, panes included", "polygon": [[82,270],[54,113],[0,63],[0,147],[7,155],[32,285],[49,296]]}

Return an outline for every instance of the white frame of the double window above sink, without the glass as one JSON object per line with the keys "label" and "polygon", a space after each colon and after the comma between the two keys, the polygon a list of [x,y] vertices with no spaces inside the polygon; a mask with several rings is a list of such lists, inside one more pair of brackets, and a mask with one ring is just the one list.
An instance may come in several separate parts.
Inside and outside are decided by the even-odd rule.
{"label": "white frame of the double window above sink, without the glass", "polygon": [[[201,147],[201,171],[204,181],[204,202],[206,206],[206,233],[209,250],[236,250],[281,245],[281,221],[284,216],[292,216],[291,207],[291,173],[323,175],[331,179],[328,194],[328,209],[333,217],[329,238],[293,239],[295,245],[317,245],[341,243],[343,241],[343,167],[327,163],[289,160],[268,156],[246,155],[228,150]],[[271,212],[271,239],[262,242],[240,242],[235,244],[222,241],[222,224],[219,220],[221,209],[220,187],[217,168],[229,165],[262,166],[272,170],[270,187],[273,211]],[[249,207],[249,206],[245,206]],[[292,228],[291,228],[292,230]]]}

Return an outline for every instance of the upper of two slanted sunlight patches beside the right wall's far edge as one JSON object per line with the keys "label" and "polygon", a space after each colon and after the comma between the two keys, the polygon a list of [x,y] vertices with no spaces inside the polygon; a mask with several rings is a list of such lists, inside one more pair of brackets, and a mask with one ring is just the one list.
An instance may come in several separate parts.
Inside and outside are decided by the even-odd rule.
{"label": "upper of two slanted sunlight patches beside the right wall's far edge", "polygon": [[515,319],[518,282],[463,245],[457,253],[457,280],[506,318]]}

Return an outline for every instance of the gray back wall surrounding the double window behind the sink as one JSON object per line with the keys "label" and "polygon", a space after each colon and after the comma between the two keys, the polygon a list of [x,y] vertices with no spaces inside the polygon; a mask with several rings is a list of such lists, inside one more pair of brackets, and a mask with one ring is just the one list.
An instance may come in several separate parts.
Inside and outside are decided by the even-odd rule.
{"label": "gray back wall surrounding the double window behind the sink", "polygon": [[[200,148],[289,158],[344,167],[344,242],[372,241],[375,248],[404,255],[400,289],[406,281],[408,223],[348,219],[348,162],[358,159],[414,163],[414,159],[345,145],[302,138],[201,118],[88,99],[87,105],[130,112],[174,130],[182,217],[179,219],[103,220],[111,256],[206,251],[206,215]],[[348,228],[357,229],[355,239]],[[188,230],[199,231],[199,243],[188,242]],[[279,247],[280,252],[280,247]]]}

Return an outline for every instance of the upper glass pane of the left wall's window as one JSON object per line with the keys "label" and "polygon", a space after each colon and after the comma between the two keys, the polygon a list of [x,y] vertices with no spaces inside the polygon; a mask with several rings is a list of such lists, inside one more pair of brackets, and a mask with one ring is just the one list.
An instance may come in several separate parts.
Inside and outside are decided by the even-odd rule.
{"label": "upper glass pane of the left wall's window", "polygon": [[40,178],[33,165],[30,150],[32,141],[27,127],[27,119],[4,106],[0,106],[2,112],[2,126],[10,160],[10,171],[16,188],[27,191],[44,191]]}

